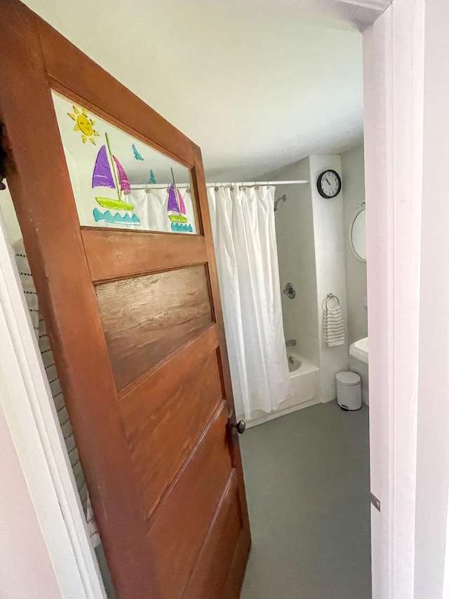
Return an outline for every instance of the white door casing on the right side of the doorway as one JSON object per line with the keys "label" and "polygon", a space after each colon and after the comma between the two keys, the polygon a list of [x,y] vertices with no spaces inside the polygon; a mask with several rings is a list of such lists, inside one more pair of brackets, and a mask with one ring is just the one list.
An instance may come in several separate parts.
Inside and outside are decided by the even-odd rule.
{"label": "white door casing on the right side of the doorway", "polygon": [[373,597],[412,598],[422,202],[424,0],[363,37]]}

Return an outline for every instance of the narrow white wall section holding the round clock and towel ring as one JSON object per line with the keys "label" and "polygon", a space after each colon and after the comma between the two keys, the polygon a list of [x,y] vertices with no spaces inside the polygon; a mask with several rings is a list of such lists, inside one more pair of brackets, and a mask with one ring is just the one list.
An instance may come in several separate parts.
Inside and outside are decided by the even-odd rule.
{"label": "narrow white wall section holding the round clock and towel ring", "polygon": [[314,211],[314,236],[316,259],[316,293],[319,324],[319,352],[321,376],[321,401],[330,402],[337,397],[335,374],[349,368],[347,338],[343,345],[330,348],[323,339],[323,302],[332,293],[340,300],[344,320],[347,320],[346,277],[344,265],[344,210],[343,190],[333,199],[319,195],[316,180],[326,169],[342,176],[342,161],[335,154],[309,157],[311,200]]}

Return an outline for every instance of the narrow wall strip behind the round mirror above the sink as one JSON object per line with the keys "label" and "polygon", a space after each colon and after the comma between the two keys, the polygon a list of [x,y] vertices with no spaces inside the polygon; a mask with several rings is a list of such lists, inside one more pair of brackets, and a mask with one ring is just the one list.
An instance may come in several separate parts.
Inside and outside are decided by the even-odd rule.
{"label": "narrow wall strip behind the round mirror above the sink", "polygon": [[344,254],[346,263],[346,301],[348,343],[368,335],[366,305],[366,262],[354,256],[349,231],[354,216],[365,202],[365,162],[363,144],[342,154],[342,187],[344,206]]}

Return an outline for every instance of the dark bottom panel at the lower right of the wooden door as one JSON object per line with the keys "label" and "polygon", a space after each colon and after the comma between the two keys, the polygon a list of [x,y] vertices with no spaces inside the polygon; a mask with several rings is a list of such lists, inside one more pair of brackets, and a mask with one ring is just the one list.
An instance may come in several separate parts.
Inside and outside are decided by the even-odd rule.
{"label": "dark bottom panel at the lower right of the wooden door", "polygon": [[238,486],[236,471],[232,470],[183,599],[224,597],[227,577],[242,530]]}

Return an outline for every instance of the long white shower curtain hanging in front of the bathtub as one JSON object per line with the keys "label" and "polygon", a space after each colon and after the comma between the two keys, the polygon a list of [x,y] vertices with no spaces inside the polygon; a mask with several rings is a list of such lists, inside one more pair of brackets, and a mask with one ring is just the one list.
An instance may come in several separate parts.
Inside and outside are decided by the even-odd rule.
{"label": "long white shower curtain hanging in front of the bathtub", "polygon": [[291,395],[274,230],[274,187],[208,189],[236,414]]}

